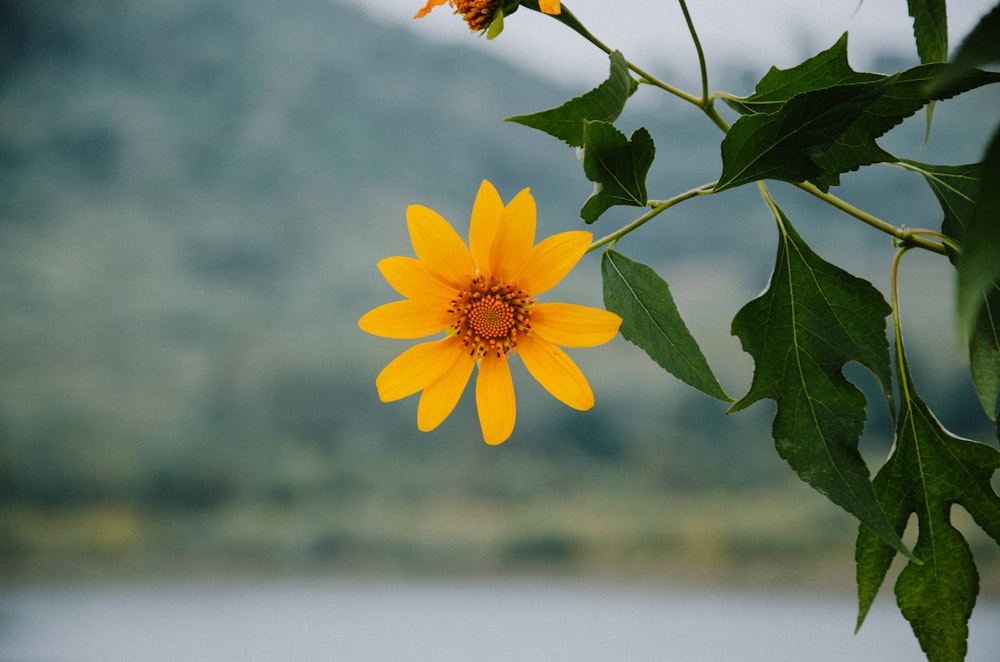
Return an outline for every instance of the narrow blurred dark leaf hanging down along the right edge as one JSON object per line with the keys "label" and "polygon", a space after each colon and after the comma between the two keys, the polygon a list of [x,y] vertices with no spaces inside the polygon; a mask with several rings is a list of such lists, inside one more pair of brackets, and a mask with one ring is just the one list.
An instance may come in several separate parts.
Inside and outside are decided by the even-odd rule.
{"label": "narrow blurred dark leaf hanging down along the right edge", "polygon": [[979,194],[958,261],[958,323],[971,333],[983,296],[1000,281],[1000,130],[993,134],[979,175]]}

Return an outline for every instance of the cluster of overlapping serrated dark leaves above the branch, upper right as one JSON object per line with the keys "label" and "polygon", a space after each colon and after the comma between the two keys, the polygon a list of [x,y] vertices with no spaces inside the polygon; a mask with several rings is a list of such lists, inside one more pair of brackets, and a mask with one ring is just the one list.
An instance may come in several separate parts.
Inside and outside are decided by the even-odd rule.
{"label": "cluster of overlapping serrated dark leaves above the branch, upper right", "polygon": [[[933,93],[943,65],[920,65],[894,76],[856,72],[847,35],[785,70],[772,68],[749,97],[726,98],[745,117],[722,142],[722,190],[760,179],[810,180],[822,190],[861,166],[895,161],[875,140],[933,100],[1000,80],[970,70]],[[766,117],[762,117],[766,116]]]}

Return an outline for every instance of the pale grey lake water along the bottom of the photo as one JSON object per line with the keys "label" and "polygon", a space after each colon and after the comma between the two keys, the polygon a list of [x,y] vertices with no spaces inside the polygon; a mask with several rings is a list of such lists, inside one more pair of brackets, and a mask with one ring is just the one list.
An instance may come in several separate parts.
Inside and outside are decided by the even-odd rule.
{"label": "pale grey lake water along the bottom of the photo", "polygon": [[[923,659],[891,591],[853,634],[850,595],[544,579],[15,584],[2,662]],[[980,600],[968,662],[1000,660]]]}

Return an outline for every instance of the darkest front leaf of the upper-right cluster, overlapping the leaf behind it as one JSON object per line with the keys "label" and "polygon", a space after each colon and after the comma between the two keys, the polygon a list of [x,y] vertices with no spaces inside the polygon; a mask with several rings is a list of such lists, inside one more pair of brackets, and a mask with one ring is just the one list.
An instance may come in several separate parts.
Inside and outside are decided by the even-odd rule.
{"label": "darkest front leaf of the upper-right cluster, overlapping the leaf behind it", "polygon": [[799,94],[773,113],[745,115],[722,141],[721,191],[761,179],[802,182],[824,173],[814,159],[830,149],[894,79]]}

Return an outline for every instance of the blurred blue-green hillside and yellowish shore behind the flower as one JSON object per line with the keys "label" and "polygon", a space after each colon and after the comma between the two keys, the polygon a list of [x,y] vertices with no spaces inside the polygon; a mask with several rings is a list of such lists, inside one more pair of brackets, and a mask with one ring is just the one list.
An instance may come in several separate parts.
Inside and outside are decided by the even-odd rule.
{"label": "blurred blue-green hillside and yellowish shore behind the flower", "polygon": [[[598,3],[577,4],[587,22]],[[785,61],[766,63],[830,46],[864,18],[847,4],[839,23],[803,29],[782,42]],[[488,178],[505,199],[531,187],[541,234],[583,227],[592,185],[573,151],[502,119],[558,105],[607,70],[526,10],[486,42],[448,7],[404,25],[417,8],[0,4],[4,585],[527,576],[849,598],[855,524],[777,457],[770,403],[727,416],[620,337],[574,353],[597,397],[588,413],[515,370],[518,424],[498,448],[481,440],[471,393],[430,434],[416,429],[415,398],[378,401],[375,375],[408,343],[356,321],[396,298],[375,263],[412,254],[405,207],[432,207],[465,234]],[[981,13],[969,10],[957,24]],[[705,18],[706,33],[726,27]],[[558,40],[516,41],[543,23]],[[630,44],[612,43],[626,56]],[[916,62],[900,40],[859,50],[856,69]],[[713,87],[750,93],[763,56],[723,55],[710,60]],[[579,66],[559,64],[568,57]],[[684,57],[654,58],[657,73],[695,80]],[[927,145],[922,115],[883,144],[927,162],[978,160],[1000,96],[967,96],[939,105]],[[716,178],[717,131],[681,103],[640,91],[619,125],[657,141],[651,197]],[[921,180],[876,172],[845,176],[839,193],[897,225],[939,226]],[[888,238],[773,189],[821,255],[887,292]],[[601,236],[637,215],[616,209],[588,229]],[[729,323],[766,286],[775,250],[752,187],[685,203],[618,250],[670,283],[723,385],[742,395],[752,362]],[[904,263],[907,346],[944,424],[988,441],[942,262]],[[553,299],[601,305],[598,263],[585,258]],[[863,448],[874,471],[888,416],[874,380],[849,372],[872,396]],[[1000,554],[963,515],[984,599],[995,599]],[[3,623],[0,613],[0,642],[13,631]],[[844,633],[852,626],[849,614]]]}

